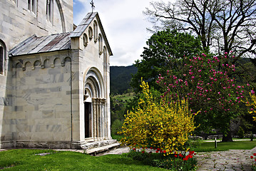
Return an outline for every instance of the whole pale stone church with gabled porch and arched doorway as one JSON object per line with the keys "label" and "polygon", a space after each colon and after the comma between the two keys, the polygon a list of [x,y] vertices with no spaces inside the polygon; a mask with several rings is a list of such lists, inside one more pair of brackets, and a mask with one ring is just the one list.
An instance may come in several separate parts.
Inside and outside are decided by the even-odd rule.
{"label": "whole pale stone church with gabled porch and arched doorway", "polygon": [[113,55],[98,13],[73,0],[0,1],[0,148],[111,143]]}

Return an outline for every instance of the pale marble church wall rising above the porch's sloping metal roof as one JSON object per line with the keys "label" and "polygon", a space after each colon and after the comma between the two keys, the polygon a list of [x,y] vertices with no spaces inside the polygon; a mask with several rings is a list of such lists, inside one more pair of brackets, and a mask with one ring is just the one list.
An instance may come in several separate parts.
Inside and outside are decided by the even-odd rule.
{"label": "pale marble church wall rising above the porch's sloping metal roof", "polygon": [[[0,1],[0,39],[6,43],[7,51],[34,34],[45,36],[73,31],[72,0],[54,0],[53,22],[46,19],[46,0],[37,1],[36,14],[29,11],[27,0],[16,1],[17,3],[13,0]],[[58,4],[61,5],[61,9],[58,8]]]}

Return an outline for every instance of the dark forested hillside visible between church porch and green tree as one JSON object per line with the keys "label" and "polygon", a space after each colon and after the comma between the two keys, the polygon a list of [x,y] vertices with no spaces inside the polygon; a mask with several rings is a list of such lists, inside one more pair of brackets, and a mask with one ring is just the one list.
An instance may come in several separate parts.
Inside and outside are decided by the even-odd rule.
{"label": "dark forested hillside visible between church porch and green tree", "polygon": [[111,66],[111,94],[122,94],[130,88],[131,74],[138,71],[135,66]]}

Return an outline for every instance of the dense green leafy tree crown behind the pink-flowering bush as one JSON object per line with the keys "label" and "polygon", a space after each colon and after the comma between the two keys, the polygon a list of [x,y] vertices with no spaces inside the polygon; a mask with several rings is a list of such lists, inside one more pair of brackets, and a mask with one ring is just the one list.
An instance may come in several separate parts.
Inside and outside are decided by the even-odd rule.
{"label": "dense green leafy tree crown behind the pink-flowering bush", "polygon": [[[159,90],[155,84],[158,74],[165,74],[168,67],[175,66],[177,70],[183,67],[183,56],[193,56],[202,51],[199,38],[194,38],[188,33],[178,31],[158,31],[146,42],[148,47],[144,48],[141,61],[135,61],[138,72],[133,75],[130,85],[140,91],[140,78],[148,82],[150,87]],[[172,63],[173,58],[180,59]]]}

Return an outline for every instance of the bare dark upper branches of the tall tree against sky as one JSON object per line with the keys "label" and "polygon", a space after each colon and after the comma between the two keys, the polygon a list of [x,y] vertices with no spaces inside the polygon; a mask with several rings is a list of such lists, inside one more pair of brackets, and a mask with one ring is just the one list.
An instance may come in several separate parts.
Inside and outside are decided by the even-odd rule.
{"label": "bare dark upper branches of the tall tree against sky", "polygon": [[[144,13],[156,28],[193,31],[203,48],[236,51],[236,58],[256,54],[255,0],[177,0],[151,2]],[[160,25],[156,24],[160,21]],[[234,61],[235,62],[235,61]]]}

